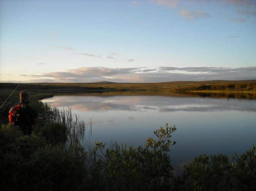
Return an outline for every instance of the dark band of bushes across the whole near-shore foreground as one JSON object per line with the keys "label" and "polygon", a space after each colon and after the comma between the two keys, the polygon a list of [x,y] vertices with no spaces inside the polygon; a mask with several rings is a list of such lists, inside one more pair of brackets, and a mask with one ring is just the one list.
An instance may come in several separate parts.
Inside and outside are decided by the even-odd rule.
{"label": "dark band of bushes across the whole near-shore foreground", "polygon": [[[57,125],[53,125],[54,129]],[[23,136],[13,125],[0,128],[1,190],[255,190],[255,146],[242,156],[201,155],[173,175],[167,152],[174,127],[154,132],[145,147],[96,142],[52,144],[44,136]]]}

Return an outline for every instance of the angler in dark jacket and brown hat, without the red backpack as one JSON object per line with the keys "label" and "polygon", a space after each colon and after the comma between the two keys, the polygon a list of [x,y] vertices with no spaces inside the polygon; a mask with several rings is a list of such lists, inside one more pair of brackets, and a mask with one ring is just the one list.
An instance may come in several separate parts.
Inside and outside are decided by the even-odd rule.
{"label": "angler in dark jacket and brown hat, without the red backpack", "polygon": [[28,105],[29,95],[27,91],[20,92],[20,123],[19,128],[23,132],[24,135],[31,135],[32,133],[32,123],[35,121],[35,118],[40,114],[35,111],[35,109],[31,108]]}

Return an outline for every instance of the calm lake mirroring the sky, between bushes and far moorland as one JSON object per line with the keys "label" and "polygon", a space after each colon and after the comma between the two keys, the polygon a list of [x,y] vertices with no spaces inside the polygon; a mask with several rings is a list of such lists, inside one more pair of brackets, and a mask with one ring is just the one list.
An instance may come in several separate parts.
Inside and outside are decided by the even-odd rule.
{"label": "calm lake mirroring the sky, between bushes and far moorland", "polygon": [[[256,100],[236,97],[241,98],[232,94],[103,92],[55,95],[42,102],[75,110],[84,122],[92,119],[90,143],[109,144],[112,140],[137,147],[144,145],[147,137],[155,138],[153,131],[160,126],[175,125],[171,140],[177,143],[171,146],[170,157],[180,171],[199,154],[232,156],[256,143]],[[89,140],[86,132],[85,146]]]}

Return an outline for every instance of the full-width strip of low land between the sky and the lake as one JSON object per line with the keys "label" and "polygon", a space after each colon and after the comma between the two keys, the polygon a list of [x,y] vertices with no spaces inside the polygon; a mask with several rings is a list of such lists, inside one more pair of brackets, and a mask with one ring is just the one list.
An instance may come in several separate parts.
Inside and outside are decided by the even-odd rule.
{"label": "full-width strip of low land between the sky and the lake", "polygon": [[[15,89],[18,84],[0,83],[0,89]],[[246,81],[202,81],[163,83],[22,83],[22,90],[55,92],[108,92],[108,91],[170,91],[170,92],[243,92],[256,93],[256,80]]]}

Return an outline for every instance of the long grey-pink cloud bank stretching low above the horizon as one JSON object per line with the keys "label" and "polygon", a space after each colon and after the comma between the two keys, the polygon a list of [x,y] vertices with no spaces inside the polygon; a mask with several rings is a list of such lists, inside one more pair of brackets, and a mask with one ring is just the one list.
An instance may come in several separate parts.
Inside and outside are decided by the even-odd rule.
{"label": "long grey-pink cloud bank stretching low above the horizon", "polygon": [[[203,80],[253,80],[256,67],[166,67],[145,68],[106,68],[82,67],[64,72],[48,72],[41,75],[21,74],[31,79],[51,79],[55,82],[170,82]],[[32,80],[33,81],[33,80]],[[41,81],[42,82],[42,81]]]}

